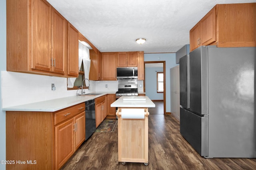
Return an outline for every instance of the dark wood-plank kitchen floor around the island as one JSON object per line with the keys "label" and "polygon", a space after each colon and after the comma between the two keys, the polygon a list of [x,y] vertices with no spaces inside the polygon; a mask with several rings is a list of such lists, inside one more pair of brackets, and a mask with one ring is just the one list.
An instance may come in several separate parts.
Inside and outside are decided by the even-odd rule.
{"label": "dark wood-plank kitchen floor around the island", "polygon": [[149,165],[118,162],[118,127],[114,133],[94,133],[62,170],[255,170],[256,158],[204,158],[180,135],[172,115],[150,113]]}

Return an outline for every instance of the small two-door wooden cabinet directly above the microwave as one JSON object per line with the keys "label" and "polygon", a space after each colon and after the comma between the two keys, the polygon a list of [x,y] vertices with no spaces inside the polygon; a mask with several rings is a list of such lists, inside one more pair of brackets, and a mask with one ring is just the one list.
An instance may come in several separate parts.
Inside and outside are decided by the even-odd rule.
{"label": "small two-door wooden cabinet directly above the microwave", "polygon": [[118,67],[137,66],[137,52],[118,52]]}

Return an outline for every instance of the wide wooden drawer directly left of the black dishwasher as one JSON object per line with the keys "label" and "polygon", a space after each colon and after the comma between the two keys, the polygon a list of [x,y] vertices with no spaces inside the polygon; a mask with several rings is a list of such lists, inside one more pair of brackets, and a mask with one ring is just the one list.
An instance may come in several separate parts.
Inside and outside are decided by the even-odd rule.
{"label": "wide wooden drawer directly left of the black dishwasher", "polygon": [[65,121],[82,111],[85,111],[84,103],[81,103],[81,104],[78,104],[75,106],[71,106],[66,109],[62,109],[61,111],[54,113],[54,125],[56,125],[62,121]]}

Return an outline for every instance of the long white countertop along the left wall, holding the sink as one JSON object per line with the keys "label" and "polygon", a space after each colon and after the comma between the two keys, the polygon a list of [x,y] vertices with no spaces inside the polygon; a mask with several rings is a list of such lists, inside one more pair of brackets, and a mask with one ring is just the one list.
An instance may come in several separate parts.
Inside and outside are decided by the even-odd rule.
{"label": "long white countertop along the left wall, holding the sink", "polygon": [[53,100],[46,100],[31,104],[24,104],[19,106],[5,107],[3,111],[49,111],[54,112],[66,107],[74,106],[88,100],[104,96],[106,94],[115,94],[116,92],[92,92],[90,94],[99,94],[96,96],[69,96],[65,98],[58,98]]}

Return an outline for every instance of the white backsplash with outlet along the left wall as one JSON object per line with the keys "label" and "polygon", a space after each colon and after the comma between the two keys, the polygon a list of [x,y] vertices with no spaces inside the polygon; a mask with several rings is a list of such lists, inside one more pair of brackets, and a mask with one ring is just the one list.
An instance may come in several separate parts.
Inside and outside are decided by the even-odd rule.
{"label": "white backsplash with outlet along the left wall", "polygon": [[[19,72],[2,71],[2,107],[10,107],[44,100],[52,100],[76,95],[76,90],[67,90],[67,78],[43,76]],[[54,83],[56,90],[52,90]],[[90,82],[90,90],[95,91],[95,82]]]}

